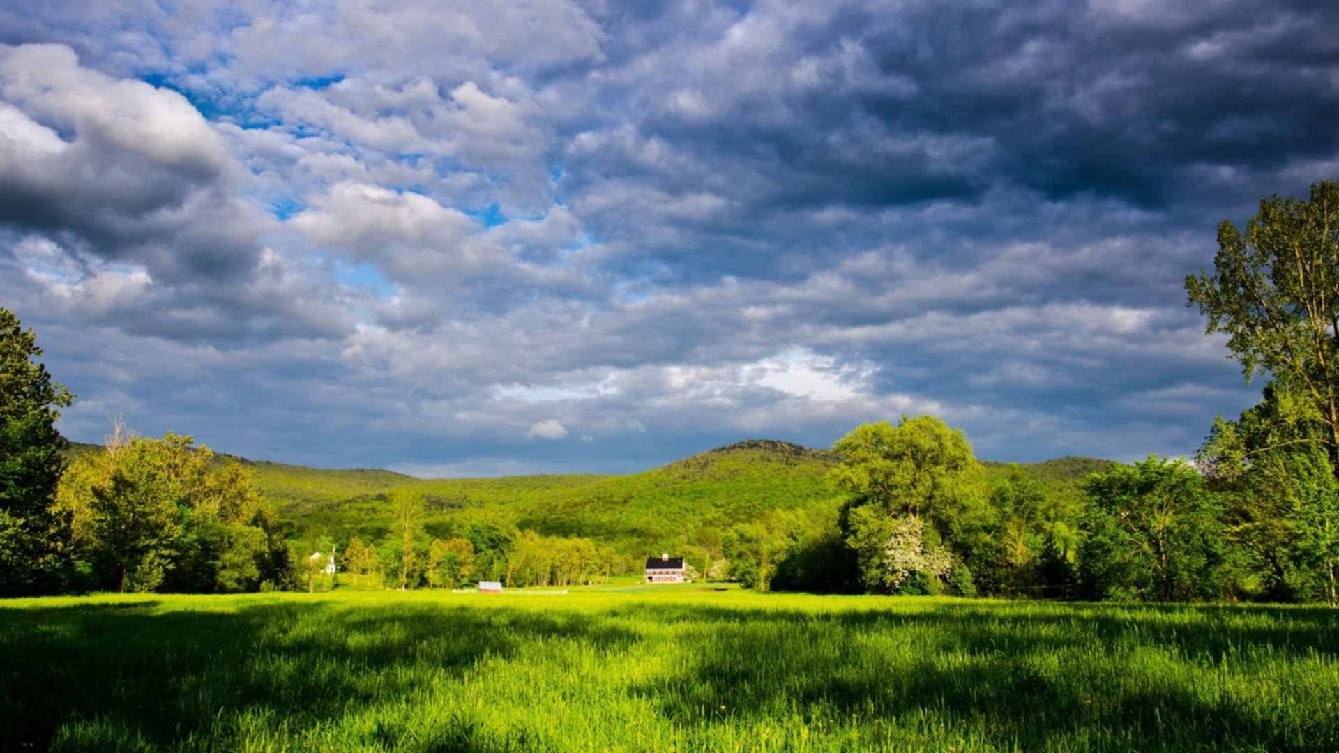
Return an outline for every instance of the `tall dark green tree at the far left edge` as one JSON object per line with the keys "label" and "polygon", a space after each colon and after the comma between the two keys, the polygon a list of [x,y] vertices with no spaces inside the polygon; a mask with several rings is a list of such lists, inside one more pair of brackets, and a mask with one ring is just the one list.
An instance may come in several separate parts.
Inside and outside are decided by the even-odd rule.
{"label": "tall dark green tree at the far left edge", "polygon": [[54,509],[66,469],[59,409],[74,401],[52,382],[32,328],[0,308],[0,594],[59,587],[68,528]]}

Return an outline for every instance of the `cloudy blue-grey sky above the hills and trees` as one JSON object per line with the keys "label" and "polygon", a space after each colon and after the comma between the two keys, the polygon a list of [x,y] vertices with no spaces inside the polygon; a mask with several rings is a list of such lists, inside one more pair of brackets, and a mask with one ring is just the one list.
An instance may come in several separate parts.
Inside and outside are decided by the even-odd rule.
{"label": "cloudy blue-grey sky above the hills and trees", "polygon": [[933,414],[1193,454],[1185,305],[1339,178],[1328,3],[0,0],[0,305],[62,431],[628,473]]}

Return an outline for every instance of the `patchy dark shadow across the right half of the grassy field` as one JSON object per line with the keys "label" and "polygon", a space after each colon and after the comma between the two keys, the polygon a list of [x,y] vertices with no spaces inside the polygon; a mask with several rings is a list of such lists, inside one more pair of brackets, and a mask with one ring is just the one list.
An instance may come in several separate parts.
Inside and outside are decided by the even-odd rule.
{"label": "patchy dark shadow across the right half of the grassy field", "polygon": [[[636,690],[657,698],[661,714],[683,725],[786,714],[876,725],[929,714],[1003,748],[1042,749],[1066,736],[1083,748],[1126,750],[1336,749],[1339,709],[1332,705],[1316,703],[1310,715],[1280,711],[1279,698],[1244,706],[1194,693],[1189,678],[1204,667],[1227,671],[1243,650],[1265,655],[1272,670],[1319,658],[1332,674],[1339,657],[1334,610],[1044,610],[1059,614],[1030,612],[1019,603],[828,614],[657,606],[651,611],[663,624],[707,627],[679,638],[694,658],[688,673]],[[911,646],[898,653],[877,644],[897,635]],[[1062,655],[1070,674],[1058,669]],[[1048,662],[1056,662],[1055,671],[1039,669]],[[1253,670],[1236,671],[1249,678]],[[1137,679],[1125,682],[1130,678]]]}

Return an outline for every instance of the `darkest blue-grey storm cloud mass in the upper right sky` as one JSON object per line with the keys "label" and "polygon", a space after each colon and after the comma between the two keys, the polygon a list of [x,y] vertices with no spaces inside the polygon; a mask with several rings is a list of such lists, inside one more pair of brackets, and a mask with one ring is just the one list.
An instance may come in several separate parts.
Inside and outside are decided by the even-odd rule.
{"label": "darkest blue-grey storm cloud mass in the upper right sky", "polygon": [[[735,186],[743,214],[759,204],[969,198],[992,184],[1158,208],[1190,188],[1190,166],[1267,169],[1335,153],[1339,134],[1322,127],[1339,115],[1339,44],[1322,32],[1339,21],[1334,9],[1216,4],[1170,24],[1158,8],[1146,15],[935,3],[845,9],[810,27],[759,21],[793,33],[758,56],[718,52],[726,42],[714,36],[703,62],[643,52],[660,91],[639,79],[611,96],[699,87],[702,113],[647,107],[636,138],[684,151],[656,182]],[[803,60],[811,86],[787,80]]]}

